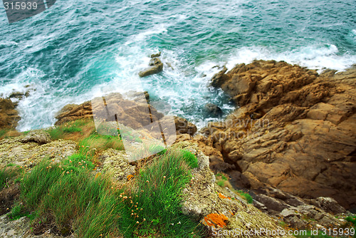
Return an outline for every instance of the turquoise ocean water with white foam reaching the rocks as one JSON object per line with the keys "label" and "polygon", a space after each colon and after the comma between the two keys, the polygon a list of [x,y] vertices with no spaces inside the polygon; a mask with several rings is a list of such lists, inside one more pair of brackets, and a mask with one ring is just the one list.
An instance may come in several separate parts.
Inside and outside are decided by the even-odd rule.
{"label": "turquoise ocean water with white foam reaching the rocks", "polygon": [[[355,9],[355,0],[58,0],[11,25],[3,9],[0,96],[36,90],[19,102],[19,130],[53,125],[68,103],[129,90],[148,90],[202,126],[214,120],[205,103],[234,108],[207,87],[214,66],[274,59],[342,71],[356,63]],[[173,69],[140,80],[157,51]]]}

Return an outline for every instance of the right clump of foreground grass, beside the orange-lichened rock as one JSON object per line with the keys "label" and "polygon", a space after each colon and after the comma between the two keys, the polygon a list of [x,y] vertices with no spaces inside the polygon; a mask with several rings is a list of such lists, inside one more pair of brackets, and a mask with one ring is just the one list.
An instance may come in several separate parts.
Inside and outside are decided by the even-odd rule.
{"label": "right clump of foreground grass, beside the orange-lichened rock", "polygon": [[140,217],[146,222],[136,230],[138,235],[145,235],[145,231],[167,237],[201,235],[199,222],[182,213],[182,190],[192,178],[189,170],[197,164],[192,153],[187,155],[185,150],[169,150],[140,172],[132,197],[142,207]]}

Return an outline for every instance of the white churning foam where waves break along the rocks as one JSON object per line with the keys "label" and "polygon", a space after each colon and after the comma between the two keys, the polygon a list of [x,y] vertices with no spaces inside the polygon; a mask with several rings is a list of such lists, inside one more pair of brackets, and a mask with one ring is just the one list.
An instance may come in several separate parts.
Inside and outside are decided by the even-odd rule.
{"label": "white churning foam where waves break along the rocks", "polygon": [[[180,16],[177,16],[177,19],[179,18]],[[279,53],[263,47],[242,47],[230,55],[217,56],[216,60],[207,60],[197,66],[192,65],[185,58],[187,54],[184,50],[163,49],[160,59],[164,63],[164,71],[157,75],[140,78],[138,73],[147,68],[150,54],[161,50],[147,46],[147,38],[166,31],[167,26],[157,25],[131,36],[127,42],[117,46],[115,53],[117,68],[112,69],[115,72],[115,77],[110,82],[93,86],[80,95],[67,96],[68,88],[55,92],[48,82],[41,81],[41,78],[45,76],[42,71],[36,68],[23,70],[15,80],[11,79],[10,84],[0,88],[4,97],[9,96],[14,90],[24,93],[26,91],[24,87],[28,84],[36,89],[31,92],[28,98],[23,98],[19,102],[18,109],[22,119],[17,129],[25,131],[34,128],[47,128],[56,122],[54,117],[64,105],[80,104],[103,94],[115,92],[123,94],[130,90],[149,90],[153,100],[164,100],[165,103],[171,105],[170,115],[181,115],[191,120],[198,128],[202,128],[209,121],[223,120],[223,118],[201,118],[197,108],[201,108],[205,103],[215,103],[216,105],[220,103],[221,109],[234,110],[233,105],[221,104],[219,101],[224,94],[222,90],[218,89],[212,93],[209,88],[212,76],[221,71],[221,66],[226,65],[228,69],[231,69],[237,63],[251,63],[255,59],[272,59],[297,63],[300,66],[315,68],[319,71],[323,68],[342,71],[356,63],[356,56],[347,54],[340,56],[334,45],[306,46]],[[41,38],[36,39],[36,41],[40,40]],[[25,48],[29,50],[31,47]]]}

